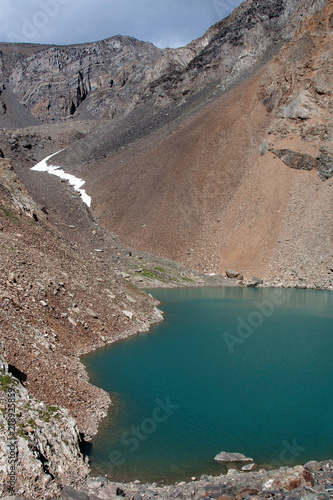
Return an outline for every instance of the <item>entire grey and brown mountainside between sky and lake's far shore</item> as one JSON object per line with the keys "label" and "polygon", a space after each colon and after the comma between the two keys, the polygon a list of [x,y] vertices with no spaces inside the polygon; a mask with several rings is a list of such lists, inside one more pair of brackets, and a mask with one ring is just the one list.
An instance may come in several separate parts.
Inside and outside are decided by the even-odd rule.
{"label": "entire grey and brown mountainside between sky and lake's far shore", "polygon": [[[25,159],[69,144],[57,164],[86,180],[93,212],[126,244],[200,271],[331,286],[331,181],[320,180],[332,165],[331,2],[301,23],[325,3],[248,0],[184,49],[115,37],[31,49],[9,71],[7,48],[3,74],[40,119],[75,101],[62,132],[44,125],[29,150],[10,147],[18,174],[38,196]],[[104,118],[75,121],[92,113]],[[299,161],[313,172],[291,170]]]}

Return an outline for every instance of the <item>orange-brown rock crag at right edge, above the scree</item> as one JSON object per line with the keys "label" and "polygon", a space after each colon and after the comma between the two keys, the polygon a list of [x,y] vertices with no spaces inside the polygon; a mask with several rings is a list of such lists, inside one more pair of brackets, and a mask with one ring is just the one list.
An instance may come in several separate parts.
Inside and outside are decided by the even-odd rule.
{"label": "orange-brown rock crag at right edge, above the scree", "polygon": [[[315,168],[323,180],[333,175],[332,67],[333,54],[332,2],[305,21],[294,38],[269,66],[263,78],[259,96],[273,117],[270,140],[294,135],[300,141],[319,149],[316,158],[307,159],[306,169]],[[300,152],[273,152],[295,168]],[[304,160],[304,158],[303,158]]]}

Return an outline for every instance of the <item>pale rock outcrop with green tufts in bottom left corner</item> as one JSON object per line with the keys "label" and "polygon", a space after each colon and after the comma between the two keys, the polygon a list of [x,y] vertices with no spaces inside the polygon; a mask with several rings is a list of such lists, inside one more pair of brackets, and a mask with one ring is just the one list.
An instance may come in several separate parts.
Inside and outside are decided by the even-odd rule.
{"label": "pale rock outcrop with green tufts in bottom left corner", "polygon": [[89,471],[76,422],[63,408],[30,396],[0,358],[0,495],[10,491],[11,472],[17,494],[57,494],[62,480],[76,483]]}

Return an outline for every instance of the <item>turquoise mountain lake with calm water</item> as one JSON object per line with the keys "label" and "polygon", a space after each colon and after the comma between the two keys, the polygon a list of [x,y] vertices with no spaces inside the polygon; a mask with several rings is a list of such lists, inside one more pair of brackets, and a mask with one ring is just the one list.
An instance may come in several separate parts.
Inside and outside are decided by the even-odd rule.
{"label": "turquoise mountain lake with calm water", "polygon": [[83,358],[114,407],[89,451],[115,480],[225,472],[221,451],[275,467],[333,457],[333,294],[155,289],[164,322]]}

